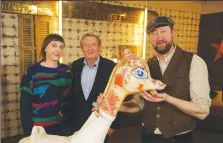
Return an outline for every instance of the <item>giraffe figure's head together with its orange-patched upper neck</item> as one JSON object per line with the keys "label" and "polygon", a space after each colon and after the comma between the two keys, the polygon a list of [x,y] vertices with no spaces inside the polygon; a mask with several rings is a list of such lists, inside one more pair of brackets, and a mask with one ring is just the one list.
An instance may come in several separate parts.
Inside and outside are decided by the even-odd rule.
{"label": "giraffe figure's head together with its orange-patched upper neck", "polygon": [[118,62],[112,71],[104,92],[102,110],[116,115],[124,99],[141,91],[149,91],[156,95],[156,90],[165,88],[165,84],[153,80],[148,64],[140,58],[124,58]]}

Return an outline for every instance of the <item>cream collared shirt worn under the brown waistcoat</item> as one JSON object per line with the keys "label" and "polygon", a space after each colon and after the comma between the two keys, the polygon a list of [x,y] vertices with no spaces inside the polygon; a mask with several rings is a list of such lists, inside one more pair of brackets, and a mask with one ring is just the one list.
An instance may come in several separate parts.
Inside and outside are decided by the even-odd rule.
{"label": "cream collared shirt worn under the brown waistcoat", "polygon": [[[157,56],[162,75],[165,73],[166,68],[171,58],[173,57],[175,50],[176,50],[176,45],[174,47],[174,50],[167,57],[165,57],[164,60],[160,60],[159,57]],[[209,114],[211,99],[209,95],[210,85],[208,81],[208,69],[204,60],[200,58],[199,56],[197,56],[196,54],[193,55],[193,58],[191,61],[189,78],[190,78],[189,90],[190,90],[191,102],[199,104]],[[140,108],[143,109],[144,103],[142,103],[142,100],[140,103],[139,99],[136,98],[135,102],[138,102],[140,105]],[[186,132],[183,132],[183,133],[186,133]],[[162,134],[158,128],[155,129],[154,133]],[[183,133],[180,133],[180,134],[183,134]]]}

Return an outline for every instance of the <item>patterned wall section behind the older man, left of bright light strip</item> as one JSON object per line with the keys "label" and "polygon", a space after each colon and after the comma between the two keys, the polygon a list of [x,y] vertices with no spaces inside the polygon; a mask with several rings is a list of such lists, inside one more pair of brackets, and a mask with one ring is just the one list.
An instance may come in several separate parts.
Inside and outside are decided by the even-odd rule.
{"label": "patterned wall section behind the older man, left of bright light strip", "polygon": [[101,55],[109,59],[112,58],[113,53],[118,54],[119,45],[142,47],[143,43],[143,25],[140,24],[64,18],[63,37],[66,43],[64,63],[71,63],[83,56],[80,40],[87,32],[100,37],[102,41]]}

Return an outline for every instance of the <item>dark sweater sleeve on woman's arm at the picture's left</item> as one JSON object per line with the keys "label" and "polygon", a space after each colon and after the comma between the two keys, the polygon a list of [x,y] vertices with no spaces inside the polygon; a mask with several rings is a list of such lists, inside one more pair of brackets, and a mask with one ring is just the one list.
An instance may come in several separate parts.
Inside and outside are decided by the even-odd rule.
{"label": "dark sweater sleeve on woman's arm at the picture's left", "polygon": [[21,81],[21,97],[20,97],[20,116],[21,124],[24,129],[25,136],[29,136],[32,131],[32,90],[30,89],[30,79],[25,73]]}

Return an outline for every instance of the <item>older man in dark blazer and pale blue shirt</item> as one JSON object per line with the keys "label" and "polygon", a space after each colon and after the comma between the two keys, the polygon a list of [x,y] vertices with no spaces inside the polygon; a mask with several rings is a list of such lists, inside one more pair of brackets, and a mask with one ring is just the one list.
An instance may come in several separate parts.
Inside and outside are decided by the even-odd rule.
{"label": "older man in dark blazer and pale blue shirt", "polygon": [[[90,116],[92,103],[100,93],[104,92],[115,66],[113,61],[100,56],[101,40],[97,35],[85,34],[80,44],[85,57],[72,63],[76,130],[79,130]],[[111,125],[108,135],[111,135],[116,128],[119,128],[118,118]]]}

